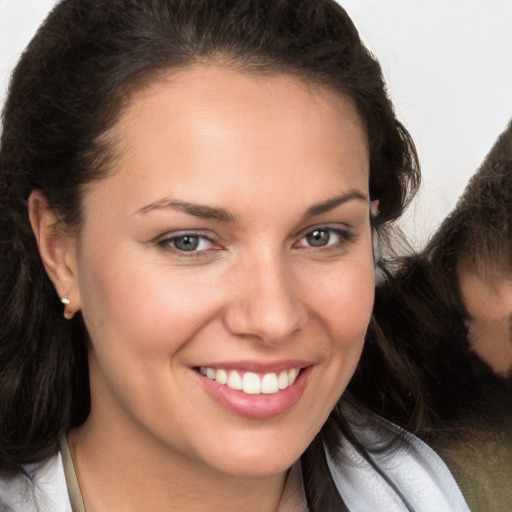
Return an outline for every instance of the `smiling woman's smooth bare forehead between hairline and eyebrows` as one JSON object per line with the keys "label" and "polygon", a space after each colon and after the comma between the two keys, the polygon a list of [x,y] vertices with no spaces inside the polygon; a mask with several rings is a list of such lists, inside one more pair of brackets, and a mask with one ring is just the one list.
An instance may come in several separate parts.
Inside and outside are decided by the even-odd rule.
{"label": "smiling woman's smooth bare forehead between hairline and eyebrows", "polygon": [[352,100],[294,75],[195,65],[135,93],[113,135],[116,168],[103,181],[118,181],[114,195],[126,187],[126,203],[165,193],[203,204],[215,193],[275,199],[292,181],[311,203],[368,189],[367,136]]}

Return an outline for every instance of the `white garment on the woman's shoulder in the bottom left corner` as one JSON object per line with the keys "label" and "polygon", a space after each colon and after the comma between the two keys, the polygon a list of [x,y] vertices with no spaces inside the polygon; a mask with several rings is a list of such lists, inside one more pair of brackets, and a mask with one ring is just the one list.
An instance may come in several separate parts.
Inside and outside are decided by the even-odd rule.
{"label": "white garment on the woman's shoulder in the bottom left corner", "polygon": [[71,512],[60,454],[26,472],[0,478],[0,512]]}

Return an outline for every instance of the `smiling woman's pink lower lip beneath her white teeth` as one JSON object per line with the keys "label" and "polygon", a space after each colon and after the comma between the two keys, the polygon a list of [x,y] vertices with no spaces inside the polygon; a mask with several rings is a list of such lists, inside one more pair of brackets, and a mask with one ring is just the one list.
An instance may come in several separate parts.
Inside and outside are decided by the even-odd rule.
{"label": "smiling woman's pink lower lip beneath her white teeth", "polygon": [[266,419],[285,413],[300,400],[311,369],[312,366],[303,368],[290,387],[271,395],[248,395],[195,373],[206,391],[229,411],[246,418]]}

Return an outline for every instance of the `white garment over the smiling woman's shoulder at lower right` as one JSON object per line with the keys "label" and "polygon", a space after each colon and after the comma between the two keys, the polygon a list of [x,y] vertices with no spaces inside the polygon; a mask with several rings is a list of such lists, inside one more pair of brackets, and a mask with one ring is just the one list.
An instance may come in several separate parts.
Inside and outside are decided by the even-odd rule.
{"label": "white garment over the smiling woman's shoulder at lower right", "polygon": [[[371,457],[415,512],[469,512],[450,471],[416,436],[369,412],[344,405],[343,414],[357,439],[376,447]],[[350,510],[408,510],[392,487],[344,440],[339,464],[329,467]]]}

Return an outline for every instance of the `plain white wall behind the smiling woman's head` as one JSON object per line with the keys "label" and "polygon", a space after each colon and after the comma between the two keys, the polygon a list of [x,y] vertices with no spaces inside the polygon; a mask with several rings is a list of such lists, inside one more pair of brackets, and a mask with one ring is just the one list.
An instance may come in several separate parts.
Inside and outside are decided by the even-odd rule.
{"label": "plain white wall behind the smiling woman's head", "polygon": [[[384,69],[420,154],[403,221],[416,245],[455,204],[512,118],[512,0],[340,0]],[[0,101],[54,0],[0,0]]]}

